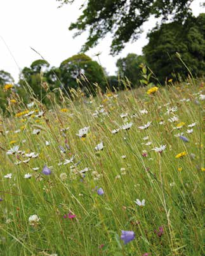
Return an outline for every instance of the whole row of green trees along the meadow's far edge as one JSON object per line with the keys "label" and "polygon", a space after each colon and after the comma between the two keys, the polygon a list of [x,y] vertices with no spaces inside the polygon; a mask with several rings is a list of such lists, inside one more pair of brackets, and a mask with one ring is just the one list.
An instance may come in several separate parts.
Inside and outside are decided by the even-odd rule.
{"label": "whole row of green trees along the meadow's far edge", "polygon": [[[157,25],[149,34],[149,43],[143,54],[129,53],[116,62],[116,75],[109,76],[105,68],[85,53],[76,54],[62,61],[59,67],[51,67],[43,59],[35,60],[30,67],[22,69],[15,92],[28,99],[30,90],[37,99],[48,104],[48,92],[58,89],[69,94],[71,89],[80,88],[85,95],[95,94],[96,87],[105,92],[107,87],[121,90],[122,80],[131,82],[132,87],[142,85],[142,66],[152,71],[151,80],[164,85],[166,80],[182,80],[191,72],[193,76],[204,76],[205,14],[189,15],[184,22],[175,20]],[[178,54],[176,54],[176,52]],[[141,82],[140,82],[141,81]],[[10,73],[0,71],[0,107],[5,110],[9,95],[4,85],[14,83]],[[29,100],[29,99],[28,99]]]}

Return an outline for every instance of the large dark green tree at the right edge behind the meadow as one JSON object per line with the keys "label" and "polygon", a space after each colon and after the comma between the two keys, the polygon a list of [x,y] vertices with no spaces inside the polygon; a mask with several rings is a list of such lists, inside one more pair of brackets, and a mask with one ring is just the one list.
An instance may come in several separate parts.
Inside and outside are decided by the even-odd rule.
{"label": "large dark green tree at the right edge behind the meadow", "polygon": [[188,66],[192,75],[204,75],[205,52],[205,14],[199,17],[189,17],[185,24],[172,22],[156,27],[149,34],[149,43],[143,48],[143,53],[149,67],[159,81],[177,76],[185,78],[187,68],[176,56],[180,53],[183,62]]}

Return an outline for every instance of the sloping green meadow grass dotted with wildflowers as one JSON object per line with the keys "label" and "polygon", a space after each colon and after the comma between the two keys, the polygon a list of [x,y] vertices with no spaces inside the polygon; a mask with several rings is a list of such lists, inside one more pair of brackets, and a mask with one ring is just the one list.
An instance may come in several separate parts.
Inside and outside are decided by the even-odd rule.
{"label": "sloping green meadow grass dotted with wildflowers", "polygon": [[[202,84],[74,92],[50,110],[11,104],[1,115],[0,255],[203,255]],[[121,231],[135,239],[124,245]]]}

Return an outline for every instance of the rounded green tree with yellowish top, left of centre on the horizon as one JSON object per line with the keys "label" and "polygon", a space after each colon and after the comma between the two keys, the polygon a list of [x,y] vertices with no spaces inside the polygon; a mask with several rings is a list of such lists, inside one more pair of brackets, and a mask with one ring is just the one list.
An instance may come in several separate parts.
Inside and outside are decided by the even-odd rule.
{"label": "rounded green tree with yellowish top, left of centre on the horizon", "polygon": [[105,90],[102,67],[84,53],[63,60],[60,64],[60,78],[65,89],[81,87],[86,94],[95,94],[94,83],[98,83]]}

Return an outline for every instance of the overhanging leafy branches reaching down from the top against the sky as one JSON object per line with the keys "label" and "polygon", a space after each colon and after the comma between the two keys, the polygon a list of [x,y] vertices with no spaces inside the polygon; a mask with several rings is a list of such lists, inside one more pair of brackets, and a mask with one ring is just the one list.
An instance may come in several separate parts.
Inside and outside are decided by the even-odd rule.
{"label": "overhanging leafy branches reaching down from the top against the sky", "polygon": [[[77,0],[56,0],[62,4]],[[142,25],[151,15],[162,18],[162,22],[171,16],[173,20],[183,21],[190,11],[193,0],[88,0],[83,1],[83,13],[76,22],[70,24],[70,30],[77,30],[79,36],[87,29],[89,36],[83,45],[83,52],[96,46],[98,41],[112,32],[111,53],[119,53],[128,41],[135,41],[142,32]]]}

